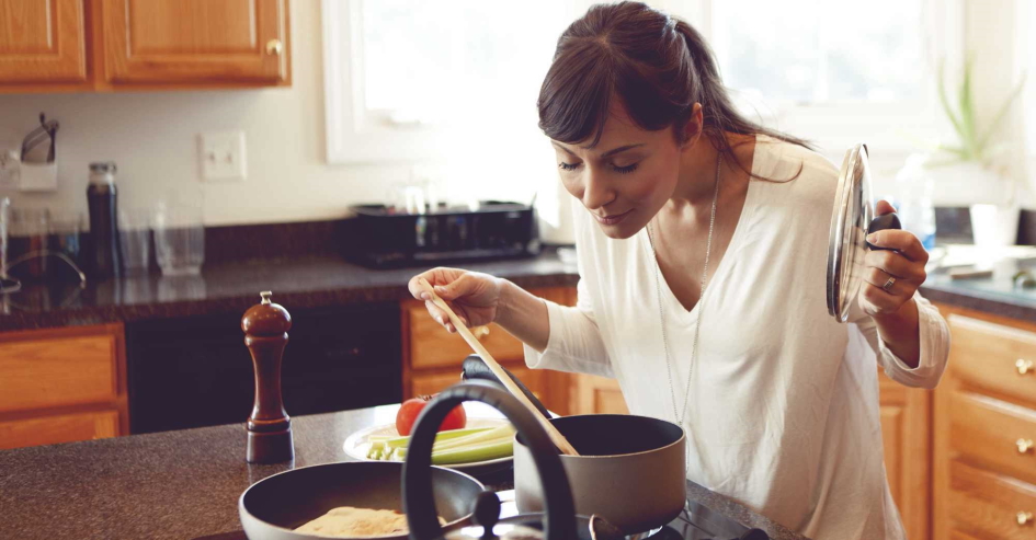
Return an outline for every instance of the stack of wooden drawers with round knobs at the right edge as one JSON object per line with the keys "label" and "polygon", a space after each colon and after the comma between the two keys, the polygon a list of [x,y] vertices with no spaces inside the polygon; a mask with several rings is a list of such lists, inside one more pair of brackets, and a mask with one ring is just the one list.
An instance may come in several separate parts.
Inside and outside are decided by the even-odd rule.
{"label": "stack of wooden drawers with round knobs at the right edge", "polygon": [[1036,539],[1036,325],[949,310],[935,392],[935,539]]}

